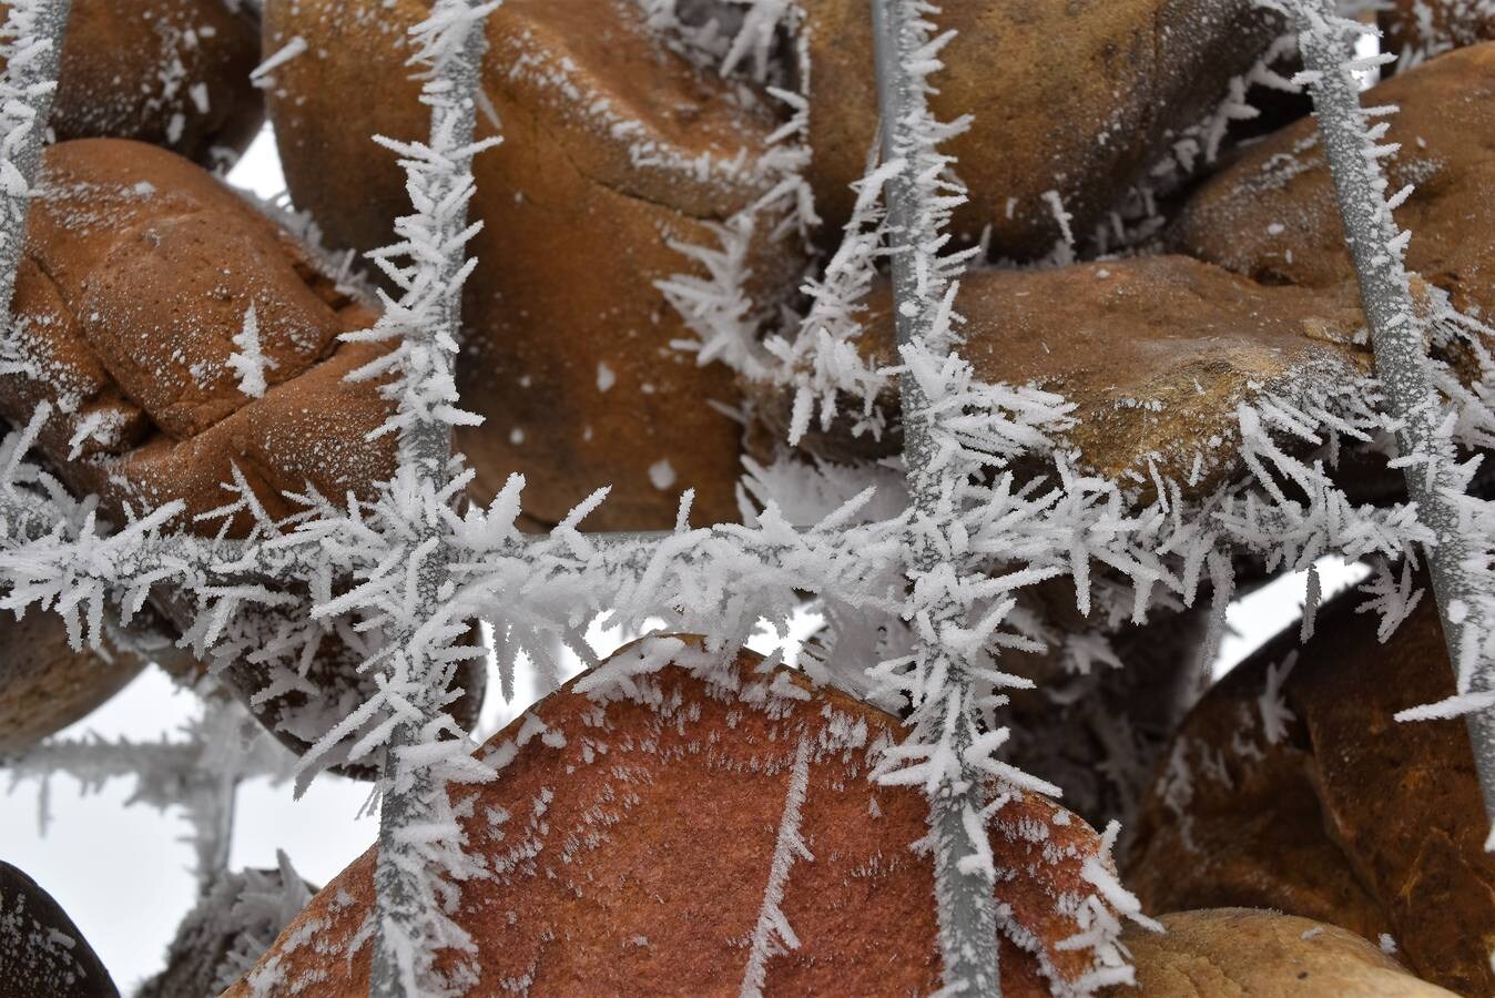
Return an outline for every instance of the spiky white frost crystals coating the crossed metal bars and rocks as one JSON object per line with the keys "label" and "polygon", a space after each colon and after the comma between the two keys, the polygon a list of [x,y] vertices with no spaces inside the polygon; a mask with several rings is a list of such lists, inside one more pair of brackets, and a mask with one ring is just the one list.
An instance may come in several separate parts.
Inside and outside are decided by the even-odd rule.
{"label": "spiky white frost crystals coating the crossed metal bars and rocks", "polygon": [[[795,6],[783,0],[737,6],[742,7],[737,31],[718,34],[715,42],[694,33],[691,43],[710,49],[722,72],[768,78],[773,75],[768,52],[780,31],[792,31],[797,24]],[[876,403],[901,384],[909,447],[909,460],[903,463],[864,469],[788,462],[750,466],[743,487],[743,524],[689,529],[682,512],[677,529],[659,538],[583,535],[586,514],[604,495],[582,503],[552,535],[526,536],[517,527],[523,492],[519,478],[486,506],[459,503],[466,472],[450,460],[446,438],[451,426],[466,424],[471,417],[459,408],[450,376],[457,317],[449,306],[469,273],[465,247],[475,233],[465,220],[472,196],[466,164],[484,146],[471,145],[463,134],[456,111],[460,102],[450,100],[462,81],[451,73],[462,70],[469,31],[475,30],[472,19],[490,7],[468,10],[465,4],[446,1],[435,4],[416,42],[431,67],[428,99],[447,114],[438,115],[429,143],[386,142],[410,172],[414,211],[401,221],[398,242],[374,254],[375,266],[396,288],[383,299],[384,321],[350,338],[395,341],[390,354],[359,375],[387,378],[384,391],[393,414],[383,433],[399,439],[402,457],[395,480],[365,500],[303,496],[296,517],[275,524],[244,478],[236,477],[232,486],[238,499],[229,508],[253,514],[259,526],[248,544],[211,545],[179,533],[173,506],[141,511],[139,520],[106,535],[91,503],[63,495],[45,472],[24,460],[52,417],[49,409],[39,411],[31,424],[0,448],[4,520],[0,572],[10,584],[0,602],[6,610],[57,608],[67,616],[75,641],[82,642],[97,636],[114,602],[139,610],[154,586],[167,578],[182,580],[187,592],[200,599],[199,620],[188,635],[199,653],[206,654],[214,644],[220,662],[253,653],[254,665],[274,675],[278,689],[312,692],[298,663],[308,647],[315,647],[324,627],[383,635],[381,641],[357,645],[366,654],[365,669],[380,675],[371,698],[347,716],[308,711],[296,723],[317,741],[300,763],[306,774],[330,762],[377,757],[392,750],[395,766],[381,790],[390,826],[387,841],[404,865],[381,873],[381,893],[390,896],[390,884],[402,883],[411,890],[407,896],[417,901],[387,913],[378,946],[393,964],[390,973],[413,988],[440,994],[466,980],[465,974],[477,973],[459,965],[456,977],[443,980],[432,964],[438,950],[463,949],[463,932],[451,919],[451,884],[481,873],[462,853],[454,805],[444,786],[449,780],[480,781],[493,775],[492,765],[466,756],[469,743],[443,713],[449,707],[444,680],[463,657],[481,654],[462,642],[468,620],[487,622],[499,645],[495,654],[508,669],[505,687],[514,686],[516,665],[523,663],[531,690],[544,692],[574,671],[577,662],[595,663],[597,651],[588,647],[585,632],[599,616],[610,614],[610,622],[634,632],[661,619],[670,629],[706,633],[712,654],[730,654],[764,624],[788,633],[795,614],[803,613],[797,593],[815,593],[827,633],[815,653],[804,657],[806,671],[816,678],[834,677],[879,702],[913,707],[907,741],[884,754],[887,765],[879,777],[922,786],[931,801],[958,801],[946,814],[952,822],[942,823],[940,852],[948,855],[937,858],[943,870],[939,901],[948,944],[948,925],[964,917],[954,911],[963,887],[969,893],[967,881],[979,880],[985,889],[997,875],[984,832],[1000,817],[1002,798],[987,802],[970,789],[993,775],[1008,789],[1058,792],[1000,762],[997,751],[1006,731],[990,723],[993,711],[1005,705],[1003,692],[1024,686],[1002,669],[1002,651],[1042,647],[1035,629],[1026,626],[1018,602],[1026,590],[1069,580],[1075,610],[1114,620],[1115,626],[1127,617],[1145,619],[1160,599],[1193,604],[1212,590],[1211,641],[1224,636],[1226,623],[1241,605],[1230,604],[1235,586],[1230,559],[1238,553],[1257,556],[1269,571],[1299,572],[1292,586],[1301,587],[1310,610],[1322,598],[1320,590],[1335,586],[1323,575],[1331,553],[1340,556],[1340,565],[1346,559],[1372,563],[1375,574],[1365,587],[1371,598],[1366,607],[1381,616],[1383,635],[1420,598],[1411,589],[1410,569],[1402,568],[1398,575],[1392,565],[1432,539],[1429,524],[1407,503],[1354,505],[1335,486],[1332,460],[1326,463],[1323,457],[1338,454],[1341,445],[1372,445],[1398,429],[1381,411],[1395,397],[1393,384],[1263,390],[1238,412],[1241,454],[1253,469],[1250,483],[1232,483],[1203,500],[1184,502],[1177,484],[1154,468],[1156,502],[1139,506],[1124,483],[1085,475],[1058,445],[1072,420],[1072,406],[1063,397],[1030,385],[982,384],[975,378],[958,356],[958,275],[970,254],[943,251],[945,224],[961,188],[949,173],[952,163],[937,152],[939,142],[960,123],[940,125],[922,106],[927,78],[939,67],[939,48],[948,39],[934,37],[928,25],[918,22],[928,13],[927,6],[903,0],[894,0],[893,6],[912,19],[912,27],[906,25],[909,33],[900,36],[906,46],[903,97],[912,114],[898,120],[901,128],[891,136],[887,161],[869,163],[840,248],[806,275],[803,314],[785,314],[776,308],[780,303],[755,302],[746,291],[750,275],[745,260],[755,227],[771,226],[785,238],[803,238],[816,221],[803,182],[804,94],[780,91],[791,120],[762,161],[724,167],[773,179],[771,194],[724,223],[716,230],[719,245],[680,247],[689,260],[706,267],[707,278],[677,278],[662,290],[691,318],[698,336],[692,348],[700,362],[721,360],[745,376],[794,390],[785,444],[800,441],[816,418],[828,427],[843,414],[857,424],[857,432],[884,432],[884,409]],[[670,21],[668,30],[680,30],[676,4],[655,3],[653,12],[661,22]],[[268,79],[275,67],[305,51],[305,40],[293,40],[266,60],[257,70],[259,79]],[[1362,60],[1357,66],[1375,64]],[[532,60],[516,64],[514,72],[543,76],[562,90],[579,87],[564,64]],[[1325,79],[1320,73],[1307,82],[1320,85]],[[1238,117],[1238,103],[1221,108],[1220,120]],[[28,108],[19,100],[6,106],[6,115]],[[595,106],[592,114],[613,121],[614,130],[631,133],[634,123],[617,118],[614,109]],[[22,139],[30,127],[24,120],[3,124],[12,137]],[[1366,134],[1369,142],[1377,140],[1374,131]],[[1183,148],[1181,155],[1202,151],[1212,158],[1209,134],[1190,140],[1197,148]],[[1366,161],[1389,152],[1387,146],[1371,149]],[[647,166],[658,164],[661,152],[641,139],[632,154],[637,164]],[[4,206],[13,211],[27,179],[9,160],[4,167],[0,172],[9,199]],[[1073,252],[1063,202],[1057,191],[1051,194],[1046,200],[1063,233],[1064,251]],[[13,223],[13,214],[7,218]],[[1404,235],[1384,242],[1384,255],[1399,258]],[[876,266],[888,261],[896,263],[897,314],[906,335],[893,366],[879,369],[860,353],[858,341]],[[1416,324],[1405,314],[1393,318],[1399,323],[1389,320],[1389,327]],[[1467,317],[1443,318],[1449,329],[1440,326],[1435,335],[1464,336],[1468,342],[1480,342],[1485,335]],[[253,308],[233,339],[236,350],[229,368],[247,397],[260,397],[272,365],[263,356]],[[1441,375],[1434,372],[1434,376]],[[614,384],[611,368],[598,365],[598,390],[608,391]],[[1473,468],[1444,468],[1440,454],[1452,450],[1452,442],[1495,439],[1495,420],[1486,405],[1491,396],[1485,382],[1462,394],[1447,381],[1438,387],[1453,403],[1450,412],[1446,418],[1441,409],[1437,418],[1428,417],[1432,427],[1428,438],[1407,448],[1398,462],[1446,486],[1434,499],[1441,496],[1455,506],[1461,524],[1485,527],[1489,511],[1464,498]],[[108,430],[85,420],[72,445],[82,448]],[[1302,457],[1308,451],[1301,445],[1313,456]],[[1035,481],[1020,475],[1014,471],[1020,462],[1038,462],[1051,472],[1049,478]],[[653,463],[647,475],[659,490],[674,487],[677,477],[668,457]],[[1488,553],[1474,554],[1474,574],[1480,575],[1488,568]],[[260,575],[308,577],[315,590],[312,623],[274,638],[256,629],[254,614],[284,608],[289,598],[257,581],[245,583],[244,574],[251,568]],[[1124,584],[1103,583],[1102,574]],[[351,587],[333,595],[329,581],[333,577],[351,580]],[[1471,687],[1483,678],[1486,665],[1482,659],[1482,642],[1488,641],[1486,602],[1486,593],[1477,592],[1449,608],[1453,623],[1468,629],[1461,638],[1465,656],[1459,693],[1444,704],[1405,711],[1401,719],[1491,707],[1492,695]],[[1311,623],[1310,613],[1302,627],[1305,638]],[[647,698],[658,663],[680,651],[679,641],[644,641],[634,654],[595,669],[577,689],[604,699]],[[1088,660],[1108,660],[1106,650],[1096,648]],[[1272,743],[1292,720],[1281,696],[1290,668],[1292,659],[1274,666],[1259,699],[1263,732]],[[804,690],[780,675],[752,695],[797,702]],[[519,741],[529,738],[552,748],[565,744],[559,732],[543,728],[526,726]],[[211,738],[196,735],[187,750],[202,753],[211,747]],[[91,754],[88,746],[69,748],[78,757],[88,757],[93,768],[84,772],[91,781],[103,778],[97,766],[105,754],[150,757],[148,774],[142,777],[148,798],[166,796],[158,781],[163,774],[179,775],[179,766],[173,765],[182,754],[181,746],[91,748]],[[797,760],[806,753],[801,741]],[[57,759],[54,768],[66,771]],[[218,759],[209,768],[224,765]],[[797,762],[791,772],[745,994],[761,989],[771,958],[795,941],[779,904],[795,858],[810,861],[798,838],[806,792],[803,769]],[[250,778],[251,772],[244,769],[239,775]],[[154,783],[150,774],[155,775]],[[1171,799],[1177,802],[1190,792],[1190,774],[1187,766],[1171,774],[1177,777],[1171,786]],[[422,789],[434,793],[428,796]],[[214,844],[212,832],[205,820],[197,822],[199,844]],[[212,864],[205,861],[203,850],[199,853],[200,873],[208,875]],[[1093,920],[1075,946],[1094,952],[1090,986],[1100,986],[1127,973],[1114,946],[1112,910],[1138,917],[1141,913],[1105,862],[1087,864],[1085,877],[1096,889],[1084,908]],[[976,913],[979,919],[997,917],[990,910],[990,893],[976,907],[985,908]],[[994,926],[985,938],[988,943],[994,938]],[[948,952],[958,947],[946,946]]]}

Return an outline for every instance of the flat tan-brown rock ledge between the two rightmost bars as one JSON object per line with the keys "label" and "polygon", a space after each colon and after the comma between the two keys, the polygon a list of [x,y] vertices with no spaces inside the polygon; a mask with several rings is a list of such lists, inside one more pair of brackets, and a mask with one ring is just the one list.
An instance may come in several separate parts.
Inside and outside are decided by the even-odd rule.
{"label": "flat tan-brown rock ledge between the two rightmost bars", "polygon": [[[1079,263],[1048,270],[975,270],[961,279],[961,356],[991,384],[1035,384],[1075,405],[1063,435],[1078,466],[1151,495],[1150,463],[1200,498],[1245,468],[1236,406],[1262,391],[1340,387],[1368,374],[1351,345],[1362,324],[1354,288],[1266,287],[1181,255]],[[893,363],[891,296],[869,302],[860,347]],[[791,396],[756,393],[779,439]],[[897,400],[881,400],[891,415]],[[901,432],[852,438],[840,420],[803,447],[828,460],[885,457]],[[1199,465],[1196,466],[1196,457]]]}

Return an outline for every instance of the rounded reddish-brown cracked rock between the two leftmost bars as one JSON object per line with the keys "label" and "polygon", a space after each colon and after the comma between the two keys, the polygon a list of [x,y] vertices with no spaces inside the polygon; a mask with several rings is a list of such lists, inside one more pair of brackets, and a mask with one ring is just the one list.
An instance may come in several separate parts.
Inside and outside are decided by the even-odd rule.
{"label": "rounded reddish-brown cracked rock between the two leftmost bars", "polygon": [[[296,509],[287,492],[368,496],[393,469],[389,438],[368,439],[387,402],[372,382],[344,381],[386,347],[338,341],[375,312],[289,233],[172,152],[121,139],[48,149],[15,302],[22,363],[0,375],[0,415],[25,423],[49,403],[39,450],[75,495],[100,496],[114,523],[126,506],[179,500],[181,527],[212,535],[218,521],[187,517],[232,500],[224,484],[235,469],[272,517]],[[262,394],[229,363],[250,309],[272,365]],[[248,515],[232,526],[242,533]],[[155,599],[178,627],[190,620],[172,592]],[[265,666],[226,654],[227,678],[245,698],[265,687]],[[365,681],[356,665],[326,636],[309,681],[344,710]],[[453,710],[471,720],[483,672],[465,672],[468,698]],[[315,702],[303,711],[306,701],[295,690],[254,710],[302,748],[329,713]]]}

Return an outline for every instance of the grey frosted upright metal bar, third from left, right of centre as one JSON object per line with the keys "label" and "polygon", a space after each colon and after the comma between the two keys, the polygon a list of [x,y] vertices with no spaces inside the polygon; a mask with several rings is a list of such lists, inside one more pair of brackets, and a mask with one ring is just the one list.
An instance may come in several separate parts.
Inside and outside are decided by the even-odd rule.
{"label": "grey frosted upright metal bar, third from left, right of centre", "polygon": [[[931,197],[928,167],[916,155],[936,136],[919,134],[928,121],[925,82],[928,69],[916,61],[925,58],[925,25],[921,21],[928,7],[916,0],[872,0],[873,33],[876,39],[878,96],[882,112],[884,164],[901,160],[901,169],[888,179],[887,208],[893,251],[894,314],[900,347],[949,348],[939,330],[939,309],[948,308],[937,291],[930,288],[928,275],[921,273],[922,254],[937,251],[940,233],[930,226],[937,212],[927,203]],[[936,282],[937,284],[937,282]],[[936,294],[931,294],[936,290]],[[921,521],[910,535],[910,574],[931,574],[940,569],[940,551],[931,542],[952,511],[951,492],[943,475],[933,469],[936,445],[931,436],[930,399],[912,374],[900,381],[903,397],[903,457],[909,498]],[[951,596],[936,602],[930,611],[931,629],[939,632],[957,624],[963,608]],[[939,660],[937,668],[958,674],[964,663],[954,660],[946,648],[925,647],[924,654]],[[985,778],[966,762],[972,748],[967,726],[969,708],[975,696],[972,684],[954,683],[952,698],[925,704],[924,710],[942,713],[940,728],[954,729],[952,748],[960,760],[960,778],[942,780],[930,795],[930,835],[934,852],[934,890],[939,907],[940,949],[945,959],[945,986],[961,994],[996,997],[1002,994],[997,952],[997,913],[993,883],[976,871],[966,871],[967,858],[988,853],[985,843],[984,799]],[[958,698],[958,699],[957,699]],[[952,702],[957,699],[957,702]],[[976,841],[976,840],[981,841]]]}

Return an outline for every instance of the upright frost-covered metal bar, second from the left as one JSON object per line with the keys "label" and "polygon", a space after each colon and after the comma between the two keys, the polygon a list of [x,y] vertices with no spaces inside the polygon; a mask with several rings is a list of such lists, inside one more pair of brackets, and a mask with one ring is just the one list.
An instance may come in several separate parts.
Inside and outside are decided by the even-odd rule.
{"label": "upright frost-covered metal bar, second from the left", "polygon": [[[401,155],[414,214],[396,224],[395,245],[372,254],[401,288],[386,297],[384,317],[372,338],[398,336],[384,371],[398,374],[389,394],[396,412],[386,430],[399,433],[399,469],[387,500],[411,527],[408,563],[416,581],[407,605],[389,611],[393,654],[390,681],[408,690],[395,708],[381,777],[378,864],[374,873],[375,941],[371,994],[405,998],[432,988],[435,950],[460,944],[462,932],[443,911],[443,884],[432,883],[422,837],[450,820],[446,759],[432,743],[449,735],[441,726],[443,696],[454,668],[451,636],[434,626],[450,586],[451,551],[443,514],[465,483],[451,475],[451,426],[469,417],[456,408],[453,362],[462,318],[462,284],[474,260],[466,244],[474,191],[472,157],[493,142],[474,142],[486,37],[483,24],[498,3],[437,0],[413,28],[423,64],[422,102],[431,108],[426,145],[381,142]],[[410,266],[392,263],[405,257]],[[399,675],[402,674],[402,675]],[[450,843],[460,852],[460,843]]]}

